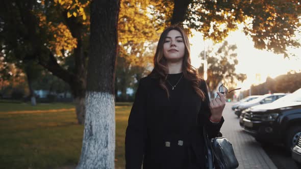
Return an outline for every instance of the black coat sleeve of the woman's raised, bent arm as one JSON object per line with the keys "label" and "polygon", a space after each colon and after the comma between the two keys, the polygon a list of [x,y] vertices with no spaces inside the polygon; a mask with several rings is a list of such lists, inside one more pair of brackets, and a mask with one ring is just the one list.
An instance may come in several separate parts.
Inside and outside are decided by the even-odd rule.
{"label": "black coat sleeve of the woman's raised, bent arm", "polygon": [[217,135],[220,131],[220,128],[224,122],[224,119],[223,119],[223,117],[221,117],[221,120],[219,123],[212,123],[209,120],[209,117],[211,115],[210,99],[209,99],[209,95],[208,95],[206,81],[203,79],[200,81],[200,89],[204,92],[205,97],[206,97],[205,101],[202,101],[202,107],[200,108],[200,112],[199,112],[200,116],[198,116],[200,127],[202,127],[202,129],[200,131],[203,131],[203,126],[205,126],[209,138],[217,137]]}

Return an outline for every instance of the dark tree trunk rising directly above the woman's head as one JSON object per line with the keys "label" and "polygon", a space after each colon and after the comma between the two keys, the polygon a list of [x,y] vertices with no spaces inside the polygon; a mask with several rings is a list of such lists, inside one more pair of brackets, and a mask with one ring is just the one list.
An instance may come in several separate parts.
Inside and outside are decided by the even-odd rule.
{"label": "dark tree trunk rising directly above the woman's head", "polygon": [[184,21],[188,5],[192,0],[174,0],[171,24],[181,24]]}

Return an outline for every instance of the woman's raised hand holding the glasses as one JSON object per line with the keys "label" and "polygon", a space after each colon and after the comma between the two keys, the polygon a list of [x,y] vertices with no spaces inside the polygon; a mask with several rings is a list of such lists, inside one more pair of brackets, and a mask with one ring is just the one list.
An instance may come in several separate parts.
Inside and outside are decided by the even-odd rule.
{"label": "woman's raised hand holding the glasses", "polygon": [[225,106],[225,94],[216,92],[219,97],[210,101],[211,120],[219,121],[222,116],[222,110]]}

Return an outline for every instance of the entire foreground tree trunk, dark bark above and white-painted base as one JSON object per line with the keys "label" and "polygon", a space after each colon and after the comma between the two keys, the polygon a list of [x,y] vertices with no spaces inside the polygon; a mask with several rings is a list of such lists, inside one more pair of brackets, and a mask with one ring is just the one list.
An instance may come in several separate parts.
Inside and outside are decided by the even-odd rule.
{"label": "entire foreground tree trunk, dark bark above and white-painted base", "polygon": [[120,0],[92,1],[83,147],[77,168],[114,168],[114,79]]}

